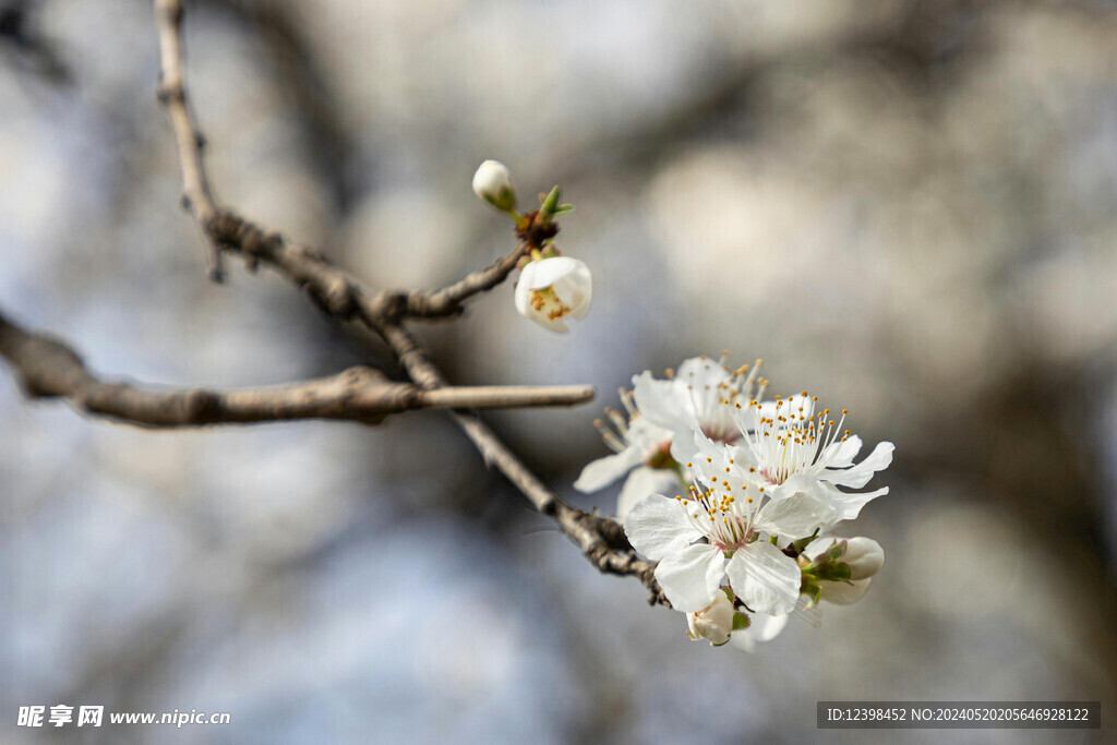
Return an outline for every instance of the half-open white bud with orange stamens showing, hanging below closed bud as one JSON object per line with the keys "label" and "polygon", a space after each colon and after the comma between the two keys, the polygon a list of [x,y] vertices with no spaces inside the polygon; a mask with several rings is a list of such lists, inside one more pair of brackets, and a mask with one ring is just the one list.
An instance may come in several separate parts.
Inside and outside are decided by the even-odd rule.
{"label": "half-open white bud with orange stamens showing, hanging below closed bud", "polygon": [[516,311],[544,328],[565,332],[566,316],[581,318],[590,309],[590,269],[569,256],[532,261],[516,284]]}

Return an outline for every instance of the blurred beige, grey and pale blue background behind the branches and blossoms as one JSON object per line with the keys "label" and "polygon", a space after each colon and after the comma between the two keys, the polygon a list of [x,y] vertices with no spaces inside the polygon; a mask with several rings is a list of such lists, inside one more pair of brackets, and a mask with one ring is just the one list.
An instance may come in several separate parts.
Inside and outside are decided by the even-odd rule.
{"label": "blurred beige, grey and pale blue background behind the branches and blossoms", "polygon": [[[592,383],[490,418],[575,505],[633,373],[764,357],[894,466],[887,563],[746,656],[599,575],[446,417],[145,432],[0,380],[4,742],[1050,742],[820,732],[815,701],[1117,716],[1117,7],[981,0],[198,0],[219,202],[375,287],[514,247],[470,191],[561,183],[593,308],[510,283],[419,333],[458,383]],[[0,0],[0,307],[106,376],[260,385],[373,361],[274,274],[206,281],[149,2]],[[229,711],[29,730],[22,705]],[[1108,724],[1106,725],[1109,726]],[[1066,742],[1111,733],[1069,732]]]}

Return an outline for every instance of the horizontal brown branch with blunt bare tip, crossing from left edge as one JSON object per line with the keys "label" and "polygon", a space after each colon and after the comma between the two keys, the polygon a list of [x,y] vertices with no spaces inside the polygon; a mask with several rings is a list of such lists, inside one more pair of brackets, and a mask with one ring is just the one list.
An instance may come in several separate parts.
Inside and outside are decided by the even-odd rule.
{"label": "horizontal brown branch with blunt bare tip, crossing from left edge", "polygon": [[69,346],[30,334],[0,314],[0,356],[19,372],[32,398],[61,398],[90,414],[152,428],[245,424],[299,419],[378,423],[414,409],[507,409],[571,405],[593,397],[584,385],[485,385],[424,390],[393,383],[372,367],[250,390],[144,390],[94,376]]}

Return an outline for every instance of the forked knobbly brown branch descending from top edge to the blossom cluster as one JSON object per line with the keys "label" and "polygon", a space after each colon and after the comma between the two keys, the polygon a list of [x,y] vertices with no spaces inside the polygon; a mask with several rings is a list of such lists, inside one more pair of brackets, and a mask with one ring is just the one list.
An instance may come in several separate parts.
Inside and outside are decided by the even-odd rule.
{"label": "forked knobbly brown branch descending from top edge to the blossom cluster", "polygon": [[[199,130],[185,107],[180,44],[182,7],[178,0],[155,0],[161,46],[163,86],[160,98],[172,115],[182,164],[184,197],[213,250],[240,252],[249,268],[264,261],[285,275],[326,313],[340,321],[357,321],[382,336],[411,380],[437,395],[448,389],[438,367],[401,321],[447,318],[461,313],[462,303],[504,281],[522,256],[540,247],[558,228],[537,213],[525,216],[517,229],[516,249],[493,266],[433,292],[388,290],[373,293],[360,280],[334,267],[318,251],[289,241],[278,232],[260,228],[231,210],[213,206],[206,184],[198,143]],[[476,414],[454,409],[450,416],[474,442],[486,464],[495,466],[544,515],[576,545],[599,571],[638,577],[650,591],[650,602],[669,603],[655,577],[656,565],[638,558],[621,527],[613,520],[586,514],[564,504],[508,449]]]}

